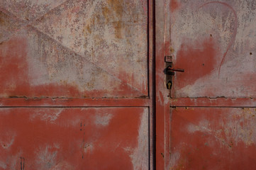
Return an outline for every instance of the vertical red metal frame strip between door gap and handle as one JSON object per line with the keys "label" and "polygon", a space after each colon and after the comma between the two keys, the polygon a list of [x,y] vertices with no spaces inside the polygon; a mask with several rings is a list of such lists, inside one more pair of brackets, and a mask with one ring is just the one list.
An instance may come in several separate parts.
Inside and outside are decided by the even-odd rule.
{"label": "vertical red metal frame strip between door gap and handle", "polygon": [[165,82],[166,1],[155,1],[155,160],[156,169],[167,168],[169,162],[169,90]]}

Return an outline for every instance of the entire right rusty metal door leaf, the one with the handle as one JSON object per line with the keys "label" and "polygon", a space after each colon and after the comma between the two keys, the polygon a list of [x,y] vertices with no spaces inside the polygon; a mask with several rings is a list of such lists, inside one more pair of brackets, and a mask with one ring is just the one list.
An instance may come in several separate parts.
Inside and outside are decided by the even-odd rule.
{"label": "entire right rusty metal door leaf, the one with the handle", "polygon": [[157,167],[256,169],[255,1],[157,4]]}

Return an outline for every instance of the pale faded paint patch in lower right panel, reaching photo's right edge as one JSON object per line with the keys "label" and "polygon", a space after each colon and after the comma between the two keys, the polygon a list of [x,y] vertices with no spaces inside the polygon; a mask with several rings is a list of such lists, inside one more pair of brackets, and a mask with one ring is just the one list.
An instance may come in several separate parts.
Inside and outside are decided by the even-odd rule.
{"label": "pale faded paint patch in lower right panel, reaching photo's right edge", "polygon": [[[223,108],[222,108],[223,109]],[[218,123],[211,126],[208,120],[201,120],[199,125],[187,125],[187,131],[205,132],[218,140],[221,145],[238,145],[239,142],[245,145],[255,145],[256,143],[256,111],[255,108],[228,108],[223,110],[223,116]]]}

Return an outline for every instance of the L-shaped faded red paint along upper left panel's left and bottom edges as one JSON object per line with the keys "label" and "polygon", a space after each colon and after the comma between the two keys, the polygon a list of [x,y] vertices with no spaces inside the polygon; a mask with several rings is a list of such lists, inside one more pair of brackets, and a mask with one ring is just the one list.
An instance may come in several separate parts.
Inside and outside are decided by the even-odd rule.
{"label": "L-shaped faded red paint along upper left panel's left and bottom edges", "polygon": [[[98,97],[108,95],[108,91],[92,90],[82,93],[76,84],[44,84],[31,86],[28,77],[27,64],[27,39],[11,38],[3,42],[0,48],[0,94],[4,98],[9,97],[73,97],[88,98],[89,96]],[[132,92],[133,91],[133,92]],[[113,90],[114,95],[127,96],[128,94],[141,95],[139,91],[122,82],[119,87]]]}

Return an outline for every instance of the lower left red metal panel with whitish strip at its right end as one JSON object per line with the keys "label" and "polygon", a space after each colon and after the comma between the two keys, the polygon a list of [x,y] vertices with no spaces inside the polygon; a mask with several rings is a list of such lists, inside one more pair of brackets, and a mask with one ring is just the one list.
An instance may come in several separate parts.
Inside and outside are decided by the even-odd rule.
{"label": "lower left red metal panel with whitish strip at its right end", "polygon": [[148,108],[1,108],[0,169],[149,169]]}

